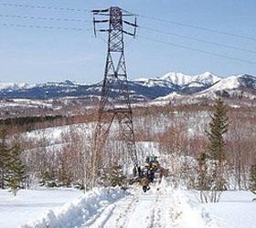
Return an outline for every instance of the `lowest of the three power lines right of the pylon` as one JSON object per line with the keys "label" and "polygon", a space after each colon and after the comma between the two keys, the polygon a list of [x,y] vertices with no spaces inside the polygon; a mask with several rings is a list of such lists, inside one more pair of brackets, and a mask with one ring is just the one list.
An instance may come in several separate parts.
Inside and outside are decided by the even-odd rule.
{"label": "lowest of the three power lines right of the pylon", "polygon": [[195,51],[195,52],[207,54],[207,55],[214,56],[214,57],[223,57],[223,58],[227,58],[227,59],[231,59],[231,60],[235,60],[235,61],[239,61],[239,62],[243,62],[243,63],[247,63],[247,64],[251,64],[251,65],[256,66],[256,62],[251,62],[251,61],[241,59],[241,58],[237,58],[237,57],[229,57],[229,56],[221,55],[221,54],[218,54],[218,53],[213,53],[213,52],[197,49],[197,48],[194,48],[194,47],[187,47],[187,46],[177,45],[177,44],[165,42],[163,40],[159,40],[159,39],[155,39],[155,38],[148,38],[148,37],[145,37],[145,36],[138,36],[138,37],[143,38],[145,40],[153,41],[153,42],[156,42],[156,43],[161,43],[161,44],[164,44],[164,45],[172,46],[172,47],[187,49],[187,50],[190,50],[190,51]]}

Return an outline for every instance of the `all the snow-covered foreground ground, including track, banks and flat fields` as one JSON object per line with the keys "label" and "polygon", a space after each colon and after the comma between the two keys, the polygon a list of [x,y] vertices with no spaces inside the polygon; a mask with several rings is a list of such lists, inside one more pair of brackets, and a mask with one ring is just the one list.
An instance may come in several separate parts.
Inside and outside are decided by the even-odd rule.
{"label": "all the snow-covered foreground ground, including track, banks and flat fields", "polygon": [[[224,192],[218,203],[202,204],[197,192],[155,186],[123,192],[95,189],[0,192],[0,227],[256,227],[256,202],[251,192]],[[66,203],[64,205],[64,203]]]}

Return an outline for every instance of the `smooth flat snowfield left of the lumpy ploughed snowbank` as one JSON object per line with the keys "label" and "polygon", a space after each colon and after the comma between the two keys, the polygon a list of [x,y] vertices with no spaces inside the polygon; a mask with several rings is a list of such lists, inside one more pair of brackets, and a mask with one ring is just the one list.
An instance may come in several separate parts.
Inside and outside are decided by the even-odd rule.
{"label": "smooth flat snowfield left of the lumpy ploughed snowbank", "polygon": [[16,228],[42,216],[49,209],[56,211],[65,203],[82,196],[72,189],[21,190],[14,196],[0,191],[0,227]]}

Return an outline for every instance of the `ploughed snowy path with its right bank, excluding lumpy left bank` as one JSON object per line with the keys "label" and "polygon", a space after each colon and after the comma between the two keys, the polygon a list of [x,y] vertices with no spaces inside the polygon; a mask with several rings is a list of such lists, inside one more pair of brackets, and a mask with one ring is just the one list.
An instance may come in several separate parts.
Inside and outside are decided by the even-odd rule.
{"label": "ploughed snowy path with its right bank, excluding lumpy left bank", "polygon": [[163,194],[163,192],[127,196],[107,206],[93,223],[90,221],[80,227],[217,227],[192,208],[190,212],[185,212],[184,209],[189,206],[174,197],[177,195]]}

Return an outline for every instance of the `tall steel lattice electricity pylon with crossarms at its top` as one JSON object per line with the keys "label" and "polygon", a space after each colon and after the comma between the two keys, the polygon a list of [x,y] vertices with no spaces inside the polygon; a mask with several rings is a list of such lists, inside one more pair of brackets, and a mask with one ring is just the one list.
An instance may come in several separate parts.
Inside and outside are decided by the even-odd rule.
{"label": "tall steel lattice electricity pylon with crossarms at its top", "polygon": [[[136,35],[136,17],[129,12],[112,6],[104,10],[92,10],[94,35],[97,32],[108,34],[108,53],[101,88],[101,102],[98,111],[98,122],[93,139],[92,151],[92,187],[102,165],[101,152],[104,149],[112,122],[118,120],[122,140],[127,145],[130,158],[138,168],[137,153],[133,131],[133,112],[129,98],[128,81],[124,58],[124,35]],[[97,19],[96,19],[97,17]],[[126,18],[131,18],[129,22]],[[108,26],[106,27],[106,24]],[[104,26],[98,29],[97,26]],[[133,31],[128,31],[133,29]]]}

